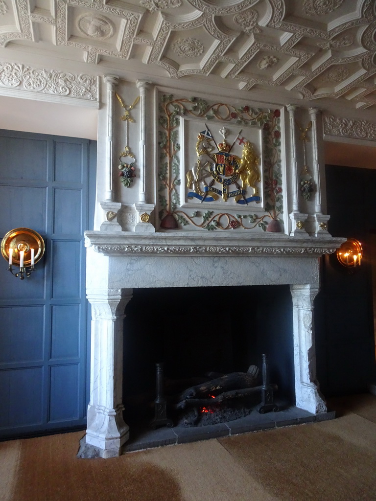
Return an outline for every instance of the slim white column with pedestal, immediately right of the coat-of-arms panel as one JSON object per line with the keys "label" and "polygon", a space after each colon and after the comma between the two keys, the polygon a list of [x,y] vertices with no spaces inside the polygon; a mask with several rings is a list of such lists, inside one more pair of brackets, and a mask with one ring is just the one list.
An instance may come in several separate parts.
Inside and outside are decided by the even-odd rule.
{"label": "slim white column with pedestal, immediately right of the coat-of-arms panel", "polygon": [[299,210],[299,192],[298,192],[298,161],[296,156],[296,125],[295,125],[295,110],[296,106],[289,104],[287,111],[290,118],[290,141],[291,141],[291,178],[292,178],[292,212],[291,219],[291,235],[307,236],[304,229],[304,222],[308,214],[302,214]]}

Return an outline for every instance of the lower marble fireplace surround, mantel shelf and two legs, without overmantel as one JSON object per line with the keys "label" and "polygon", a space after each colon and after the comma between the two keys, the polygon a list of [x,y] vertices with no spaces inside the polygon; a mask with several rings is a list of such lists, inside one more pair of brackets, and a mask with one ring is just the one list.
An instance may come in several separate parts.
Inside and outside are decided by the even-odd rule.
{"label": "lower marble fireplace surround, mantel shelf and two legs, without overmantel", "polygon": [[313,302],[319,257],[334,252],[342,241],[328,235],[266,233],[247,241],[231,234],[86,232],[92,354],[83,456],[117,456],[129,438],[122,417],[123,319],[136,288],[290,285],[295,404],[314,414],[326,412],[316,381]]}

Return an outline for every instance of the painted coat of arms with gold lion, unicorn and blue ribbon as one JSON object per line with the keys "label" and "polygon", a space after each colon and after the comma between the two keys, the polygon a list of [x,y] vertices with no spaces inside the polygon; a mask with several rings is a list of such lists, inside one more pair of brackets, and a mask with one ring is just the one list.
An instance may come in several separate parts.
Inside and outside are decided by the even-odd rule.
{"label": "painted coat of arms with gold lion, unicorn and blue ribbon", "polygon": [[[235,142],[243,145],[242,158],[231,153],[233,145],[226,141],[227,129],[220,133],[224,139],[217,145],[218,151],[212,153],[214,146],[212,134],[206,129],[197,136],[197,163],[186,174],[187,187],[192,189],[188,198],[197,198],[201,202],[212,202],[222,196],[236,203],[247,205],[251,201],[260,201],[256,183],[261,181],[259,158],[253,145],[238,134]],[[247,188],[253,188],[253,195],[247,196]]]}

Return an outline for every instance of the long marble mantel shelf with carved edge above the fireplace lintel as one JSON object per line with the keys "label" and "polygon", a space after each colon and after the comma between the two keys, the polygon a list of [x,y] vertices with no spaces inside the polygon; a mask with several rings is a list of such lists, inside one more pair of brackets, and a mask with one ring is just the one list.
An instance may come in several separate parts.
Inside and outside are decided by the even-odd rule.
{"label": "long marble mantel shelf with carved edge above the fireplace lintel", "polygon": [[251,238],[227,233],[108,233],[86,231],[85,246],[105,256],[305,256],[331,254],[345,238],[265,233]]}

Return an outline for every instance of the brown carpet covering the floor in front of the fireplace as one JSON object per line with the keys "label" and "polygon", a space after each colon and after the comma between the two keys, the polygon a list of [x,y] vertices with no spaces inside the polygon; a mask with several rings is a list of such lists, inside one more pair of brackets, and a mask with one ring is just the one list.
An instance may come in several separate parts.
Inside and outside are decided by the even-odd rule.
{"label": "brown carpet covering the floor in front of the fireplace", "polygon": [[78,459],[83,432],[0,443],[1,501],[376,501],[376,396],[331,421]]}

